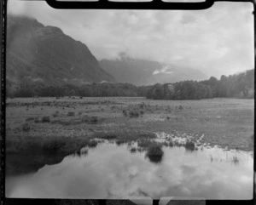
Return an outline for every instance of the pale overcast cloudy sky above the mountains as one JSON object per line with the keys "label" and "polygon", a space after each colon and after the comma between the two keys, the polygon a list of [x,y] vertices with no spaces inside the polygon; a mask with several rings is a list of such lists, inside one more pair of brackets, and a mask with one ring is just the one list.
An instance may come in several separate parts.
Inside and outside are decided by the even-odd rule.
{"label": "pale overcast cloudy sky above the mountains", "polygon": [[197,11],[52,9],[44,1],[9,1],[8,14],[58,26],[98,60],[120,52],[220,77],[253,69],[253,3],[214,3]]}

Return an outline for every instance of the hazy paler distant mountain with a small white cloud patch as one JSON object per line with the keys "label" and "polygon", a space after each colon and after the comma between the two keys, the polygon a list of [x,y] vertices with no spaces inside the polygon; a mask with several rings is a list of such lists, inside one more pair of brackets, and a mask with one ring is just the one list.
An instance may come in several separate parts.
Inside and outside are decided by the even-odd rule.
{"label": "hazy paler distant mountain with a small white cloud patch", "polygon": [[152,60],[131,59],[124,55],[117,60],[100,60],[100,65],[118,83],[133,83],[139,86],[207,78],[203,72],[192,68],[165,65]]}

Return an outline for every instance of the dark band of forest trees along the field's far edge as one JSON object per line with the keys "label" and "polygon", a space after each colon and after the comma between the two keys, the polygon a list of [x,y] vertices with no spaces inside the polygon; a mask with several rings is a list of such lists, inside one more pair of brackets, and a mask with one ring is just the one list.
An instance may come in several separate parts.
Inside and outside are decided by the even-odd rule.
{"label": "dark band of forest trees along the field's far edge", "polygon": [[229,77],[210,77],[205,81],[135,86],[130,83],[91,83],[83,86],[66,84],[46,86],[44,83],[22,83],[15,87],[7,80],[8,98],[30,97],[146,97],[153,100],[201,100],[211,98],[254,98],[254,69]]}

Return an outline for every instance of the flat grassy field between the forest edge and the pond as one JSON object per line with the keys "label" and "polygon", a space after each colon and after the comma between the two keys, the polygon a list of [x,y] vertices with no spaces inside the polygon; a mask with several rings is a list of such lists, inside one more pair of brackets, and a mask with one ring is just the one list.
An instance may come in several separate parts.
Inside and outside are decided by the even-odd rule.
{"label": "flat grassy field between the forest edge and the pond", "polygon": [[[205,146],[253,151],[253,106],[253,100],[236,99],[9,99],[6,151],[8,156],[22,157],[24,153],[24,159],[31,153],[26,168],[40,167],[60,162],[84,145],[93,145],[92,138],[113,138],[122,143],[154,138],[154,133],[160,132],[200,139]],[[19,159],[9,157],[8,173],[15,172],[18,164]]]}

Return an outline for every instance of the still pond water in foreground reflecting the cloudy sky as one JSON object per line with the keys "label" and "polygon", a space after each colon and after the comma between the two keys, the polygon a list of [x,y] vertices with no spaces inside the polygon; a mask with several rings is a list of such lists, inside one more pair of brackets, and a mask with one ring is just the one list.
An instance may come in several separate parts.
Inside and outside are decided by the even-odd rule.
{"label": "still pond water in foreground reflecting the cloudy sky", "polygon": [[[135,145],[136,146],[136,145]],[[38,172],[6,179],[7,197],[129,198],[134,196],[252,199],[253,157],[244,151],[163,147],[150,162],[131,145],[104,141]]]}

